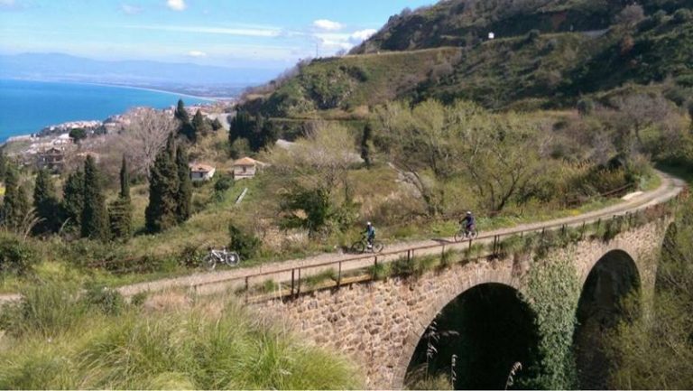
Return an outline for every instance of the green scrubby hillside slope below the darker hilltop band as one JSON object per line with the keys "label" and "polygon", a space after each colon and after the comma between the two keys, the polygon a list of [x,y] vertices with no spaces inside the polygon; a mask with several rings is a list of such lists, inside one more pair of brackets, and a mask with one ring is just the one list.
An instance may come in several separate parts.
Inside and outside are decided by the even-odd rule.
{"label": "green scrubby hillside slope below the darker hilltop band", "polygon": [[[456,3],[442,2],[412,15],[444,14],[443,9],[449,10]],[[583,9],[577,3],[563,7],[575,5],[570,12],[577,12]],[[526,15],[546,17],[550,14],[547,10],[559,9],[558,5],[548,8],[550,4],[553,3]],[[435,47],[439,43],[459,42],[427,41],[421,38],[425,36],[422,32],[427,31],[426,24],[420,24],[418,29],[410,26],[406,31],[411,39],[423,40],[413,45],[415,50],[369,50],[368,54],[311,61],[301,65],[294,77],[274,83],[263,96],[253,97],[245,107],[273,117],[363,117],[367,113],[364,107],[397,98],[415,102],[425,98],[445,102],[467,98],[490,108],[573,107],[583,95],[629,82],[661,83],[669,77],[672,82],[667,88],[682,95],[680,90],[693,84],[693,52],[688,49],[693,45],[693,15],[686,8],[672,14],[663,9],[648,2],[644,18],[610,26],[584,23],[586,29],[607,27],[599,31],[560,32],[562,28],[544,28],[537,22],[528,25],[537,29],[525,33],[527,29],[517,27],[522,23],[515,24],[518,29],[509,33],[518,35],[498,33],[493,41],[465,46]],[[647,14],[647,10],[654,12]],[[614,14],[614,10],[607,14]],[[448,19],[455,18],[445,20]],[[602,19],[610,22],[612,16]],[[481,20],[485,18],[482,16]],[[394,32],[400,25],[390,24],[393,23],[365,42],[362,49],[390,48],[383,43],[387,42],[383,41],[383,32]],[[541,33],[542,29],[559,33]],[[445,36],[438,33],[436,39]],[[418,49],[428,46],[434,47]]]}

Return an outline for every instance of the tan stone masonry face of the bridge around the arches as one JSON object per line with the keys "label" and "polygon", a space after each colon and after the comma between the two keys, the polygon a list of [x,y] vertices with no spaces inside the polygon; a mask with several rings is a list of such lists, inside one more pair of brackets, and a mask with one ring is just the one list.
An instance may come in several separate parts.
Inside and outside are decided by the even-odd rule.
{"label": "tan stone masonry face of the bridge around the arches", "polygon": [[[508,257],[455,264],[418,278],[389,278],[381,282],[352,284],[340,289],[306,293],[282,302],[254,307],[291,327],[319,346],[337,349],[363,368],[366,386],[400,388],[409,360],[424,330],[459,294],[478,284],[498,283],[522,292],[530,267],[566,258],[576,263],[584,284],[596,262],[619,249],[630,255],[641,275],[643,292],[651,292],[656,274],[655,253],[661,247],[668,221],[634,228],[608,243],[585,239],[577,245],[550,251],[541,261]],[[576,303],[577,307],[577,303]]]}

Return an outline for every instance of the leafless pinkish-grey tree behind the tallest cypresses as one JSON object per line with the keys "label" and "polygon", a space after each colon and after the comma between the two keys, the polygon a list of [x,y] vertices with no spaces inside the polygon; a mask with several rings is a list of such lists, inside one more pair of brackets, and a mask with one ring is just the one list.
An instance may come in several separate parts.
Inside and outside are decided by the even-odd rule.
{"label": "leafless pinkish-grey tree behind the tallest cypresses", "polygon": [[131,159],[133,171],[149,176],[156,154],[178,123],[172,115],[152,108],[140,108],[128,116],[132,119],[120,135],[120,144]]}

